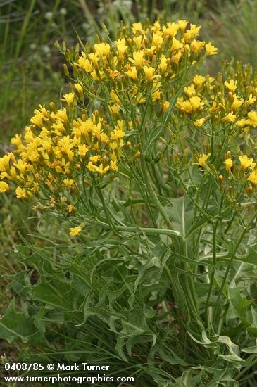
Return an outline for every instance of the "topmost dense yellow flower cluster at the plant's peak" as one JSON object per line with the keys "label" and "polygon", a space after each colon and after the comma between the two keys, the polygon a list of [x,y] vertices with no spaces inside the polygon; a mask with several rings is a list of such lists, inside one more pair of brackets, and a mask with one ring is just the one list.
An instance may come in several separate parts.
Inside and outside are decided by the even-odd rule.
{"label": "topmost dense yellow flower cluster at the plant's peak", "polygon": [[113,44],[103,40],[86,46],[70,63],[84,94],[104,96],[115,117],[127,104],[152,103],[165,112],[177,75],[217,53],[211,43],[198,39],[200,29],[187,20],[163,27],[158,21],[146,26],[134,23],[132,31],[123,27]]}

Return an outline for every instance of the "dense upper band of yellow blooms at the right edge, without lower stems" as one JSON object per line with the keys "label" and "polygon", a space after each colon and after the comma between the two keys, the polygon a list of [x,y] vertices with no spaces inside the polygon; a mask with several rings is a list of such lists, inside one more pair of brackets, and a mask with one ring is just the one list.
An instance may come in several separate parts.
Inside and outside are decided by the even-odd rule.
{"label": "dense upper band of yellow blooms at the right edge, without lower stems", "polygon": [[196,127],[234,122],[232,129],[248,132],[257,126],[257,113],[252,109],[256,105],[257,82],[247,82],[248,72],[232,74],[225,81],[221,76],[214,80],[195,75],[193,82],[184,87],[184,96],[177,99],[177,108],[189,114]]}

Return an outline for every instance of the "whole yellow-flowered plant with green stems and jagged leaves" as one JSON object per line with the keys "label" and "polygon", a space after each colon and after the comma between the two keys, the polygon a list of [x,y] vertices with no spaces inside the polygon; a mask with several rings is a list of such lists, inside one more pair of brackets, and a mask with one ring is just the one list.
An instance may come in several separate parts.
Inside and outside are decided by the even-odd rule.
{"label": "whole yellow-flowered plant with green stems and jagged leaves", "polygon": [[244,275],[257,265],[257,75],[241,63],[204,74],[218,49],[200,28],[134,23],[114,42],[106,30],[81,51],[57,44],[69,89],[11,140],[0,192],[54,212],[81,242],[82,257],[60,260],[61,315],[74,305],[76,328],[104,324],[122,360],[144,341],[161,378],[177,364],[168,352],[177,335],[189,333],[183,357],[191,348],[198,357],[190,352],[189,372],[182,360],[167,383],[214,385],[210,374],[222,369],[236,386],[254,359],[238,346],[256,354],[256,286],[246,289]]}

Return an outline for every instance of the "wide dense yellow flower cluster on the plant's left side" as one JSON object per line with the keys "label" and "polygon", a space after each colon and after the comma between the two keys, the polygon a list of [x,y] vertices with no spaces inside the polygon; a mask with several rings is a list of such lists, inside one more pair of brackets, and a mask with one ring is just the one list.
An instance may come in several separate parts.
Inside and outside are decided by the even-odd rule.
{"label": "wide dense yellow flower cluster on the plant's left side", "polygon": [[13,152],[0,158],[0,191],[18,198],[40,199],[44,205],[65,203],[80,184],[101,181],[118,170],[123,154],[123,121],[111,127],[96,110],[92,117],[76,111],[75,93],[65,94],[67,107],[39,106],[24,135],[11,139]]}

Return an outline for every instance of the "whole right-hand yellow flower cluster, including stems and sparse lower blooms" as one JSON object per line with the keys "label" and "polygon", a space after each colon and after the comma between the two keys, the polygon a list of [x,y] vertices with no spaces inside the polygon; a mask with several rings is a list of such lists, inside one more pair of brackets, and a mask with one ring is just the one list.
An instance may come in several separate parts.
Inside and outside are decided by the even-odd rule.
{"label": "whole right-hand yellow flower cluster, including stems and sparse lower blooms", "polygon": [[188,146],[191,134],[191,151],[187,153],[193,158],[192,165],[213,174],[222,192],[227,190],[230,197],[237,195],[239,201],[239,197],[252,194],[257,184],[253,160],[257,139],[257,76],[251,66],[242,63],[225,70],[226,77],[219,74],[215,79],[195,75],[177,98],[174,118],[184,147]]}

